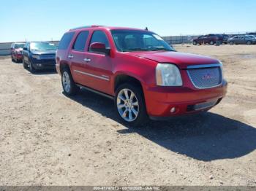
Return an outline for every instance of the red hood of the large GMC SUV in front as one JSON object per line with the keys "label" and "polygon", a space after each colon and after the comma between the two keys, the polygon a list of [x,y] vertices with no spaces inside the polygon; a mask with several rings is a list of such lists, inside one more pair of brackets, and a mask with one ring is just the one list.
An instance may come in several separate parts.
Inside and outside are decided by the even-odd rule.
{"label": "red hood of the large GMC SUV in front", "polygon": [[194,55],[183,52],[148,51],[148,52],[127,52],[127,54],[139,58],[146,58],[158,63],[175,63],[181,69],[189,65],[219,63],[217,59],[202,55]]}

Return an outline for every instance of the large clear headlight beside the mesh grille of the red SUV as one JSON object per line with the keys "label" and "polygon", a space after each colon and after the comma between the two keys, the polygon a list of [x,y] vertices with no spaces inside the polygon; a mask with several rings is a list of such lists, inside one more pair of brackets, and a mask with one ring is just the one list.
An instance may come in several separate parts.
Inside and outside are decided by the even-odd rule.
{"label": "large clear headlight beside the mesh grille of the red SUV", "polygon": [[181,73],[177,66],[170,63],[158,63],[156,68],[157,85],[181,86]]}

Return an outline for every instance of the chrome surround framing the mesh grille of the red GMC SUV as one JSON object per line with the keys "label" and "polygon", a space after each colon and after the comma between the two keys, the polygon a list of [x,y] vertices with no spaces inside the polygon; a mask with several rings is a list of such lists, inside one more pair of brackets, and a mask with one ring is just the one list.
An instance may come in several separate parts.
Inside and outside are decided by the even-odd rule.
{"label": "chrome surround framing the mesh grille of the red GMC SUV", "polygon": [[200,90],[204,90],[204,89],[210,89],[213,87],[219,87],[222,85],[223,83],[223,72],[222,72],[222,63],[212,63],[212,64],[201,64],[201,65],[192,65],[192,66],[187,66],[187,69],[205,69],[205,68],[214,68],[214,67],[219,67],[220,71],[221,71],[221,77],[222,80],[218,85],[214,85],[211,87],[197,87],[195,85],[195,83],[192,80],[192,77],[190,77],[189,71],[187,70],[187,75],[189,76],[190,82],[192,82],[192,85],[194,85],[195,88],[200,89]]}

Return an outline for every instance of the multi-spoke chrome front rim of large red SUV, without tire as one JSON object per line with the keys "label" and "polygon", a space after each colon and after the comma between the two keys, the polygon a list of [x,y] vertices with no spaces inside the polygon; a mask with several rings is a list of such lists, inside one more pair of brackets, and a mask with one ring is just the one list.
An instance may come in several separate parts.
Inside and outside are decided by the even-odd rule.
{"label": "multi-spoke chrome front rim of large red SUV, without tire", "polygon": [[120,116],[127,122],[136,120],[139,114],[139,103],[135,93],[129,89],[122,89],[117,96],[116,106]]}

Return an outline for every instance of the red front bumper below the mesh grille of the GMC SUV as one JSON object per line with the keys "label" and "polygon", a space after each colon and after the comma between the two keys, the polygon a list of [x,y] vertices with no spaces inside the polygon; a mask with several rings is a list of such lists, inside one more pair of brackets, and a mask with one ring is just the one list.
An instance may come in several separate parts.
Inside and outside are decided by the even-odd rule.
{"label": "red front bumper below the mesh grille of the GMC SUV", "polygon": [[[219,87],[198,90],[191,87],[148,87],[144,89],[146,109],[151,118],[171,117],[207,111],[219,104],[227,93],[227,82]],[[197,109],[197,104],[214,102],[214,105]],[[206,104],[207,105],[207,104]],[[170,110],[175,107],[175,112]]]}

